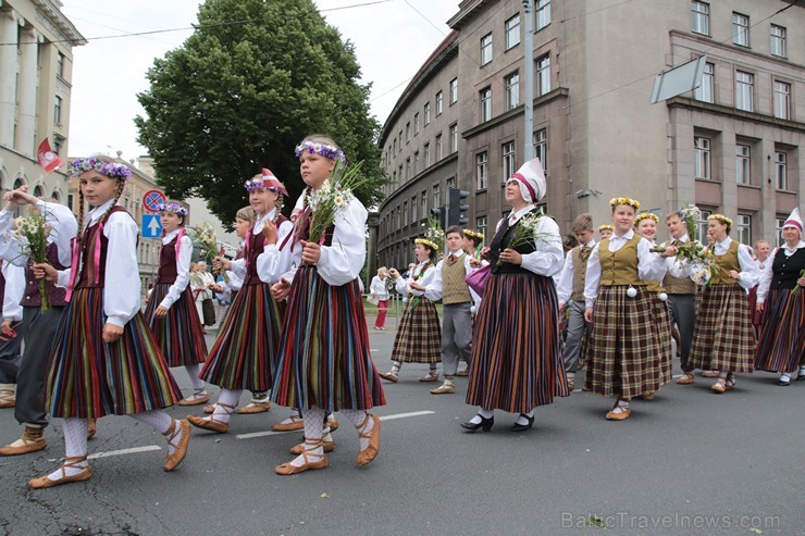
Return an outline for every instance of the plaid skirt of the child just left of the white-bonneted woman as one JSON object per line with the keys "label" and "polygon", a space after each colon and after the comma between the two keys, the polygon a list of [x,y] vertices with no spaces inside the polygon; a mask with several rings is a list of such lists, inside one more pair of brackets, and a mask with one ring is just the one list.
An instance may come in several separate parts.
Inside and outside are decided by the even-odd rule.
{"label": "plaid skirt of the child just left of the white-bonneted woman", "polygon": [[436,306],[424,296],[408,299],[394,337],[392,359],[404,363],[442,361],[442,325]]}

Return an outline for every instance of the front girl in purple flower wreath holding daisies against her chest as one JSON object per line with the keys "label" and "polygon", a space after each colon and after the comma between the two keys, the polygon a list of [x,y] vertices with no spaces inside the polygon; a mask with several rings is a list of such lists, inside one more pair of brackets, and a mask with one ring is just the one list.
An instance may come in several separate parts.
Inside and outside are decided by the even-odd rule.
{"label": "front girl in purple flower wreath holding daisies against her chest", "polygon": [[[324,469],[323,421],[342,411],[358,428],[358,464],[370,463],[380,447],[380,419],[367,412],[385,404],[380,377],[369,350],[369,333],[358,276],[366,261],[367,210],[348,191],[322,244],[308,241],[322,203],[324,183],[344,152],[324,136],[310,136],[296,147],[307,188],[304,210],[295,224],[294,266],[274,285],[277,299],[288,299],[280,359],[271,397],[298,408],[305,421],[305,450],[277,474]],[[334,199],[332,199],[335,202]],[[318,237],[317,237],[318,238]],[[293,283],[292,283],[293,282]]]}

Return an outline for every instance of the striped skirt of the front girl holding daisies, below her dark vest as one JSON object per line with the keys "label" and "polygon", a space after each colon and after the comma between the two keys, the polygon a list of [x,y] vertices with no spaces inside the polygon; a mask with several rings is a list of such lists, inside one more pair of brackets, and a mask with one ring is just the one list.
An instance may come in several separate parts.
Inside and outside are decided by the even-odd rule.
{"label": "striped skirt of the front girl holding daisies, below her dark vest", "polygon": [[386,403],[369,353],[358,279],[331,286],[315,266],[299,267],[288,295],[271,399],[327,411]]}

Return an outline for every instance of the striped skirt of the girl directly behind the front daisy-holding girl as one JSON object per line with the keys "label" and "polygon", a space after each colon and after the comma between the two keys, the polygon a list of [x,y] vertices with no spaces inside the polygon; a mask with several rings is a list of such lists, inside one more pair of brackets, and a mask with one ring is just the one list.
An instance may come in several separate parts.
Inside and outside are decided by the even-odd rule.
{"label": "striped skirt of the girl directly behind the front daisy-holding girl", "polygon": [[199,377],[224,389],[271,388],[283,306],[267,284],[244,285],[221,324]]}

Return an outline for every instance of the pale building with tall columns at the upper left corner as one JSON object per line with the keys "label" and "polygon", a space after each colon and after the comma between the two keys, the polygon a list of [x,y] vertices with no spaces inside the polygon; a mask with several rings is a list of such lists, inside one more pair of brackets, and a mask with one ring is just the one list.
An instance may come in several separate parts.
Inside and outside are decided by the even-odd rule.
{"label": "pale building with tall columns at the upper left corner", "polygon": [[37,162],[48,138],[66,164],[73,47],[86,45],[59,0],[0,0],[0,187],[28,185],[65,202],[66,165],[46,175]]}

